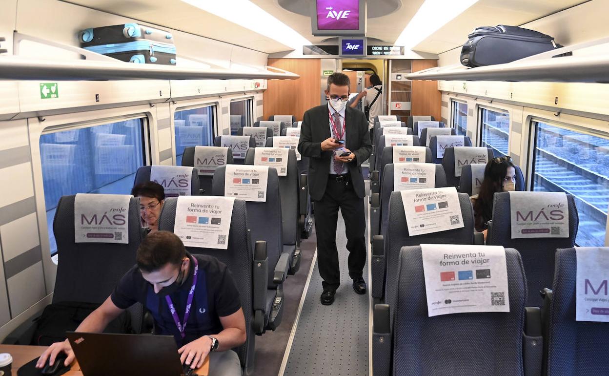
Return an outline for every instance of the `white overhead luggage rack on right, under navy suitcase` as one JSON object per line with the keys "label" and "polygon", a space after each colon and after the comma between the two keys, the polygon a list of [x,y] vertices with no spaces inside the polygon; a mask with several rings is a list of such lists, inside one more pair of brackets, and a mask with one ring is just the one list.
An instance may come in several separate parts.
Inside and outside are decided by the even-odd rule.
{"label": "white overhead luggage rack on right, under navy suitcase", "polygon": [[[609,43],[609,38],[575,44],[515,62],[467,68],[450,65],[411,73],[409,80],[588,82],[609,83],[609,55],[580,55],[577,51]],[[573,56],[554,57],[574,52]]]}

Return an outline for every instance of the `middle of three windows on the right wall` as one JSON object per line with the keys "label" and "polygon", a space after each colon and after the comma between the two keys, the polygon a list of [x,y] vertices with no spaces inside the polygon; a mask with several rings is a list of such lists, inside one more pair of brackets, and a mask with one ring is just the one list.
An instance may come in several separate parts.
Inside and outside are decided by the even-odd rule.
{"label": "middle of three windows on the right wall", "polygon": [[480,146],[493,149],[495,157],[503,157],[509,152],[510,114],[480,109],[481,138]]}

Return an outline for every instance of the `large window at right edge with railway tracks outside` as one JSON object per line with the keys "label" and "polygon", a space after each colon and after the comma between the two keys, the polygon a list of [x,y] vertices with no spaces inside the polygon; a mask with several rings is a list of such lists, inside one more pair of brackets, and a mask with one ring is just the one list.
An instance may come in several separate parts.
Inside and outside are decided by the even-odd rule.
{"label": "large window at right edge with railway tracks outside", "polygon": [[533,121],[533,191],[566,192],[579,213],[578,246],[604,246],[609,205],[609,140]]}

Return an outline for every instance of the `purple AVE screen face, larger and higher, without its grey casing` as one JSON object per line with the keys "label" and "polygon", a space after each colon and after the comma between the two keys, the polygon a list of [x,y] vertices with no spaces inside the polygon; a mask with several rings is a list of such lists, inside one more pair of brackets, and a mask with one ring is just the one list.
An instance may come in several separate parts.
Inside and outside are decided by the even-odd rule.
{"label": "purple AVE screen face, larger and higher, without its grey casing", "polygon": [[358,30],[359,0],[317,0],[319,30]]}

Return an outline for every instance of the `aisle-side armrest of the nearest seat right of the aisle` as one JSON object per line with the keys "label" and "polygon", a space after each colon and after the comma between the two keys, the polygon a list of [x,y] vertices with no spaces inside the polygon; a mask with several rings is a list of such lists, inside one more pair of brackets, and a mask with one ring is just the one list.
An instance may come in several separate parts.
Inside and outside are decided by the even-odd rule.
{"label": "aisle-side armrest of the nearest seat right of the aisle", "polygon": [[372,328],[372,369],[374,376],[391,374],[391,329],[389,325],[389,305],[376,304]]}

